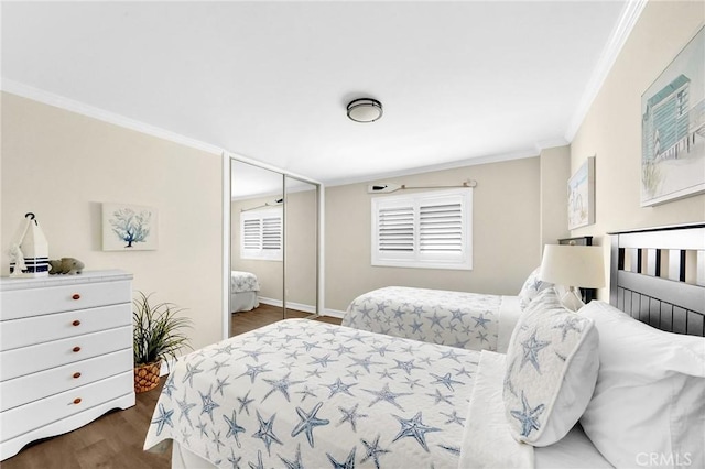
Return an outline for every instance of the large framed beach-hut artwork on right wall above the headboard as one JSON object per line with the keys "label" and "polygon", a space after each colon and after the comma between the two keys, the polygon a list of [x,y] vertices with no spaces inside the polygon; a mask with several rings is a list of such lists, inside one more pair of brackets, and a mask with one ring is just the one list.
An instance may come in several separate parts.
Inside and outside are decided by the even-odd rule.
{"label": "large framed beach-hut artwork on right wall above the headboard", "polygon": [[641,96],[641,206],[705,192],[705,28]]}

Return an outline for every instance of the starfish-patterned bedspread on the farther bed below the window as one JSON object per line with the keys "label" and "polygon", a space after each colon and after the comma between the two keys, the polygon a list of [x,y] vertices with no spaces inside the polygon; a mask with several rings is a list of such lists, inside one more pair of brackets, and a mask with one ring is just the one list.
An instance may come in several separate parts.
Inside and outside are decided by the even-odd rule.
{"label": "starfish-patterned bedspread on the farther bed below the window", "polygon": [[468,350],[497,350],[502,296],[387,286],[350,303],[343,325]]}

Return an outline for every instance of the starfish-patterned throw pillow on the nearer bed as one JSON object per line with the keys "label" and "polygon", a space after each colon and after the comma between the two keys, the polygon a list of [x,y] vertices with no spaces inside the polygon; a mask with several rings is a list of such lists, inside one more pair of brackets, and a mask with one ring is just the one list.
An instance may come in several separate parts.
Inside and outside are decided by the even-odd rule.
{"label": "starfish-patterned throw pillow on the nearer bed", "polygon": [[514,439],[547,446],[563,438],[589,403],[598,357],[593,320],[564,308],[554,288],[539,293],[507,350],[505,414]]}

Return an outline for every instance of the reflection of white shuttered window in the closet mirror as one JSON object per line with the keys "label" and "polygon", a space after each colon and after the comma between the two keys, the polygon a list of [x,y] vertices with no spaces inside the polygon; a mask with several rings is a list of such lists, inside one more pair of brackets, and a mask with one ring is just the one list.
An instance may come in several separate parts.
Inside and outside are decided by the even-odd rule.
{"label": "reflection of white shuttered window in the closet mirror", "polygon": [[281,207],[241,212],[240,237],[242,259],[281,261],[283,258]]}

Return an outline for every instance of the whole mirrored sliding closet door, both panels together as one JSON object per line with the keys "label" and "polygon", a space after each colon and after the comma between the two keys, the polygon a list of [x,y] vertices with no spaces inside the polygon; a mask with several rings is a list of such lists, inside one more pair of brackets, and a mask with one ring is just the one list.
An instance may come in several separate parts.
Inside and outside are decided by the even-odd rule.
{"label": "whole mirrored sliding closet door, both panels together", "polygon": [[230,160],[229,335],[318,312],[317,184]]}

